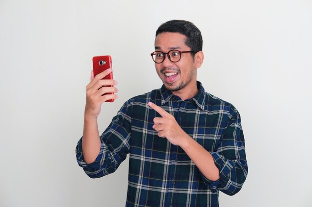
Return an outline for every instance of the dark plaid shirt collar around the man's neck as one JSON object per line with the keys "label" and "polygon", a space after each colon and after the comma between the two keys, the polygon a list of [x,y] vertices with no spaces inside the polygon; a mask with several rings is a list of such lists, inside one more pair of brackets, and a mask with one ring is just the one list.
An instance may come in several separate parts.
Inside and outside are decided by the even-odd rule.
{"label": "dark plaid shirt collar around the man's neck", "polygon": [[[201,82],[197,81],[197,88],[198,88],[198,93],[193,97],[188,100],[193,100],[196,105],[201,109],[205,109],[205,89],[202,86]],[[167,90],[164,85],[161,86],[160,88],[160,94],[161,94],[161,105],[165,104],[168,102],[171,98],[178,98],[177,96],[173,95],[171,91]]]}

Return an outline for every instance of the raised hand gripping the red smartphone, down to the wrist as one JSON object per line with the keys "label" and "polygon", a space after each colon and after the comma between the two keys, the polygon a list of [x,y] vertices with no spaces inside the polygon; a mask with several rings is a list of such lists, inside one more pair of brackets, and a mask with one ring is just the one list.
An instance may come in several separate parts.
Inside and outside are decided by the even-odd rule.
{"label": "raised hand gripping the red smartphone, down to the wrist", "polygon": [[105,94],[118,92],[118,89],[116,87],[110,87],[111,85],[117,85],[116,80],[107,80],[107,79],[102,80],[102,78],[108,75],[111,71],[112,69],[106,69],[93,78],[93,70],[92,70],[91,82],[87,85],[85,118],[98,117],[101,112],[102,103],[110,99],[118,98],[116,94]]}

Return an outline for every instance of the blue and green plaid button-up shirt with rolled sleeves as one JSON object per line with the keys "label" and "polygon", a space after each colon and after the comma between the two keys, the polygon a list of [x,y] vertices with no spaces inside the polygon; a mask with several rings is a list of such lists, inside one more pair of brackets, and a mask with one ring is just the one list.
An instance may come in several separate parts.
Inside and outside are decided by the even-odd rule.
{"label": "blue and green plaid button-up shirt with rolled sleeves", "polygon": [[[83,159],[81,139],[78,164],[91,178],[115,172],[130,153],[126,207],[218,207],[219,191],[236,194],[248,168],[238,111],[209,93],[181,100],[164,86],[128,100],[101,135],[101,151],[94,163]],[[160,115],[151,101],[173,115],[180,127],[207,151],[220,171],[220,179],[203,176],[187,154],[152,128]]]}

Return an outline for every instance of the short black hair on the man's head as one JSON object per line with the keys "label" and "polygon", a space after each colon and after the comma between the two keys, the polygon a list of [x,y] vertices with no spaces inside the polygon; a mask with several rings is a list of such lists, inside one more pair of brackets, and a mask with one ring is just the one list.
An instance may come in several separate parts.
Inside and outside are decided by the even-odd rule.
{"label": "short black hair on the man's head", "polygon": [[[161,24],[157,31],[156,37],[162,32],[178,32],[186,36],[185,45],[192,51],[202,51],[202,36],[200,30],[189,21],[170,20]],[[193,57],[195,53],[192,54]]]}

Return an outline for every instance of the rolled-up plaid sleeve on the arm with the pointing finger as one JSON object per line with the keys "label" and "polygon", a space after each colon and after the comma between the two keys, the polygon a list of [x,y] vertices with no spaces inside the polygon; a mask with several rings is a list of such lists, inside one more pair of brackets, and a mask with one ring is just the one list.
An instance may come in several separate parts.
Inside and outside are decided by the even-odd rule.
{"label": "rolled-up plaid sleeve on the arm with the pointing finger", "polygon": [[245,140],[238,111],[232,106],[229,121],[220,138],[217,150],[210,152],[220,172],[217,181],[208,180],[201,174],[212,192],[217,189],[227,195],[240,191],[246,180],[248,166],[245,153]]}

